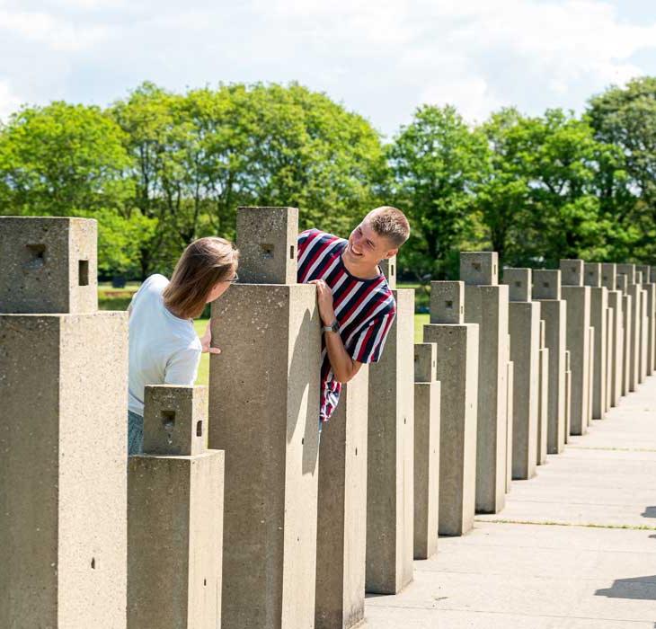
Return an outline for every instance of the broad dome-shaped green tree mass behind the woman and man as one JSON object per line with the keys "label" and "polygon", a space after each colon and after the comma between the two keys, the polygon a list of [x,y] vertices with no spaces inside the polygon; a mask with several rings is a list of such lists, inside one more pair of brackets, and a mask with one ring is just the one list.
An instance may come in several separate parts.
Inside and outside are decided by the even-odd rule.
{"label": "broad dome-shaped green tree mass behind the woman and man", "polygon": [[134,157],[134,205],[155,226],[142,274],[167,270],[200,235],[235,235],[238,205],[302,208],[301,226],[343,233],[377,200],[377,132],[321,93],[291,84],[180,95],[142,84],[111,115]]}

